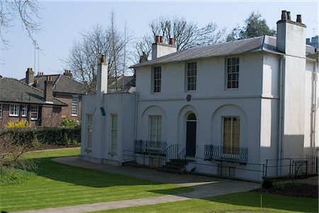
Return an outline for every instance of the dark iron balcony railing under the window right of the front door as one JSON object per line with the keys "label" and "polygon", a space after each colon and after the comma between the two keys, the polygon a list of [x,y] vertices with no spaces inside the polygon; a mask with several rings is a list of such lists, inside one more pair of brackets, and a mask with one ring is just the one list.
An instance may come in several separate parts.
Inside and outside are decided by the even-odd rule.
{"label": "dark iron balcony railing under the window right of the front door", "polygon": [[246,164],[248,148],[205,145],[205,161],[227,161]]}

